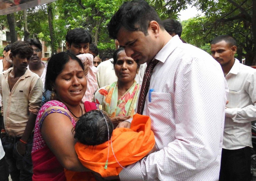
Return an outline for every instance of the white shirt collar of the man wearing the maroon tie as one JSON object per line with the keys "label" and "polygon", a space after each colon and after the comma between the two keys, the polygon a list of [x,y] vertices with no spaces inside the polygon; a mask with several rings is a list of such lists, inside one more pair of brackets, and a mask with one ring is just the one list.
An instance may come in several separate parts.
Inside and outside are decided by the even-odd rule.
{"label": "white shirt collar of the man wearing the maroon tie", "polygon": [[178,45],[182,44],[178,35],[175,35],[170,39],[168,43],[156,54],[155,59],[159,60],[160,62],[165,62],[168,56],[174,51]]}

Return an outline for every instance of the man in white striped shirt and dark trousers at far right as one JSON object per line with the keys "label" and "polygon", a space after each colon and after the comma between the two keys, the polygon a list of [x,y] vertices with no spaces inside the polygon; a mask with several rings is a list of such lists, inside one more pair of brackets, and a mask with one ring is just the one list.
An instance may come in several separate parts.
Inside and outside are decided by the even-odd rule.
{"label": "man in white striped shirt and dark trousers at far right", "polygon": [[234,58],[236,41],[221,35],[211,42],[212,57],[221,65],[229,93],[219,180],[251,180],[251,121],[256,120],[256,70]]}

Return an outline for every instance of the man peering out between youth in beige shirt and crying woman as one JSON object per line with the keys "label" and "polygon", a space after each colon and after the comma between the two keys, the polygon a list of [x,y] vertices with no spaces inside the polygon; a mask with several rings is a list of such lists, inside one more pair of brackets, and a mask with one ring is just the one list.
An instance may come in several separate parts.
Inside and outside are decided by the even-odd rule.
{"label": "man peering out between youth in beige shirt and crying woman", "polygon": [[47,64],[41,61],[42,58],[42,44],[38,39],[28,39],[28,44],[33,48],[33,55],[30,58],[27,68],[36,73],[42,80],[45,87],[45,75]]}

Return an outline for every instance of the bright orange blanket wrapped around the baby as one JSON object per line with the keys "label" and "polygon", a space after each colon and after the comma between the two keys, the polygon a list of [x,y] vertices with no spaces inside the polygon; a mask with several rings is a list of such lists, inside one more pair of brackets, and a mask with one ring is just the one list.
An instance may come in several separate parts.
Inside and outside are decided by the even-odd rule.
{"label": "bright orange blanket wrapped around the baby", "polygon": [[[109,143],[110,144],[110,143]],[[112,146],[118,162],[122,166],[127,166],[145,157],[154,147],[155,137],[151,131],[151,120],[148,116],[135,114],[131,128],[116,128],[112,133]],[[111,149],[109,148],[108,168],[104,169],[107,155],[108,142],[97,146],[88,146],[81,143],[75,145],[75,149],[80,162],[88,169],[101,174],[102,177],[119,175],[123,169],[117,163]],[[81,172],[65,172],[67,180],[90,180],[89,175],[81,175]],[[89,173],[87,173],[89,174]]]}

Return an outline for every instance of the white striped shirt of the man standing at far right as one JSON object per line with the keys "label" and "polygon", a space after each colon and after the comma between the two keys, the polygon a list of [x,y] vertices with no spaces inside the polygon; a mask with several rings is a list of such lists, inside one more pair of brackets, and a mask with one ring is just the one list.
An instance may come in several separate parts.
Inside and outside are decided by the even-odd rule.
{"label": "white striped shirt of the man standing at far right", "polygon": [[256,120],[256,69],[235,59],[225,78],[229,103],[226,106],[223,148],[252,147],[251,121]]}

